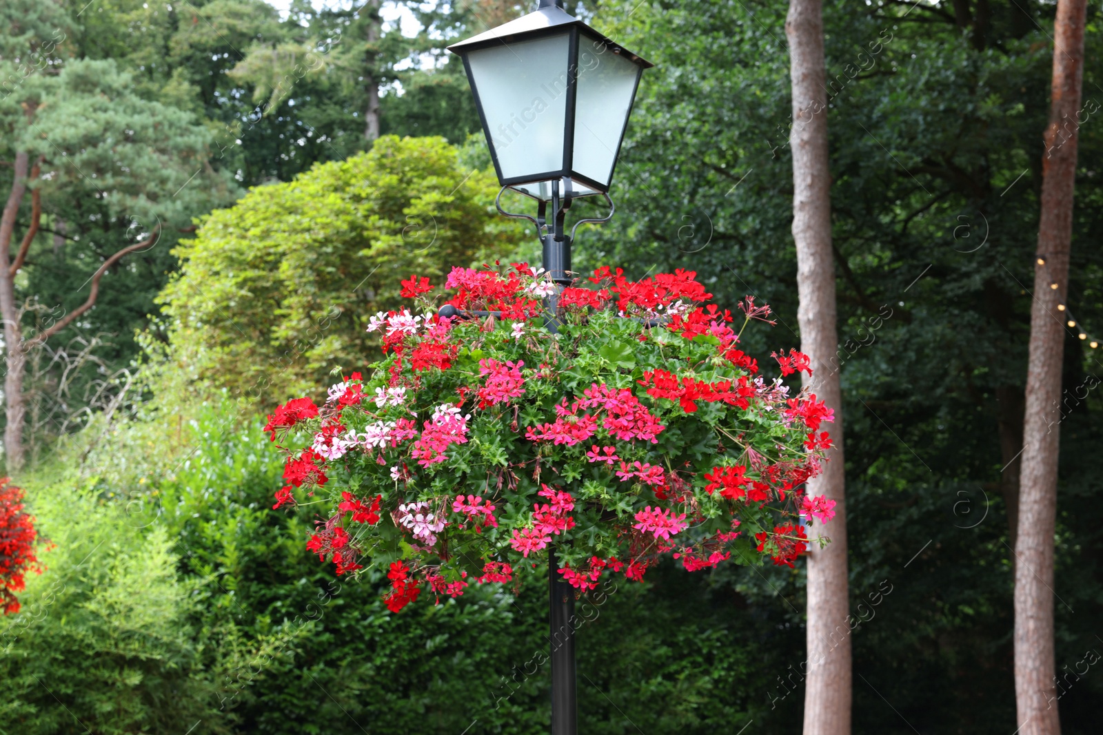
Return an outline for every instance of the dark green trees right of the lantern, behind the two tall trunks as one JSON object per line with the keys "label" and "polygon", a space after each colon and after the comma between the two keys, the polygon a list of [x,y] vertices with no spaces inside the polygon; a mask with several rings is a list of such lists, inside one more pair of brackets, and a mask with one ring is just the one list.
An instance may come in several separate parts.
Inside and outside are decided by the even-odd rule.
{"label": "dark green trees right of the lantern, behind the two tall trunks", "polygon": [[[576,251],[583,267],[678,264],[715,278],[720,298],[759,294],[779,313],[775,341],[796,329],[784,12],[762,2],[602,3],[603,28],[657,66],[644,73],[618,165],[618,216]],[[824,8],[855,605],[880,581],[896,584],[853,634],[855,672],[872,684],[855,677],[855,732],[997,734],[1021,724],[1000,496],[1017,471],[1004,468],[1021,429],[1052,13],[1049,3],[1004,1]],[[1089,10],[1086,110],[1103,101],[1099,18]],[[1099,334],[1103,127],[1083,122],[1079,134],[1069,300]],[[1101,431],[1097,391],[1083,390],[1097,355],[1070,334],[1065,366],[1069,408],[1053,415],[1062,422],[1056,593],[1068,603],[1056,603],[1059,669],[1097,646],[1090,621],[1101,614],[1100,516],[1083,501],[1099,487],[1083,448]],[[764,580],[732,584],[759,609],[786,607],[770,602]],[[800,607],[800,577],[769,584]],[[797,640],[793,656],[801,650]],[[1093,731],[1101,681],[1083,677],[1061,699],[1065,732]],[[799,678],[793,685],[786,705],[803,696]]]}

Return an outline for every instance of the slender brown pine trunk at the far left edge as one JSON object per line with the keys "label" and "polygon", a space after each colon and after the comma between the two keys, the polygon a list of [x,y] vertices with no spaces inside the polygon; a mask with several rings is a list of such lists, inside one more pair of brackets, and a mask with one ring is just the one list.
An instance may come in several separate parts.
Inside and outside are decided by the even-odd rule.
{"label": "slender brown pine trunk at the far left edge", "polygon": [[23,401],[23,374],[26,355],[23,349],[23,332],[19,324],[19,309],[15,306],[15,278],[11,268],[11,240],[15,234],[15,217],[19,205],[26,194],[26,176],[30,156],[26,151],[15,153],[14,180],[8,203],[0,217],[0,317],[3,318],[4,356],[7,371],[3,380],[4,410],[7,424],[3,430],[4,458],[8,472],[18,472],[23,466],[23,420],[26,407]]}

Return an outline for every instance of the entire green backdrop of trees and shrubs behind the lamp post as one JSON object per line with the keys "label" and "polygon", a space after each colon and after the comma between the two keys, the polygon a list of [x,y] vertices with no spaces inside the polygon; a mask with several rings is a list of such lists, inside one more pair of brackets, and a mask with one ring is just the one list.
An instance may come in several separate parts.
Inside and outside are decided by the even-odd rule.
{"label": "entire green backdrop of trees and shrubs behind the lamp post", "polygon": [[[0,9],[0,160],[25,144],[52,166],[22,298],[47,315],[71,307],[131,216],[167,223],[58,335],[104,335],[88,385],[139,360],[141,390],[111,393],[131,410],[92,411],[60,442],[38,429],[40,460],[19,479],[55,549],[24,613],[0,620],[0,728],[546,731],[547,669],[517,673],[546,642],[543,588],[393,616],[375,577],[334,592],[302,548],[310,508],[267,510],[280,467],[258,414],[370,361],[363,324],[398,303],[399,279],[536,258],[531,234],[493,212],[467,85],[441,51],[531,8],[411,6],[418,36],[372,40],[362,4]],[[617,217],[581,233],[576,267],[695,269],[718,301],[754,294],[778,312],[775,328],[745,335],[749,352],[795,344],[784,6],[576,12],[656,64],[618,164]],[[865,620],[848,634],[856,733],[1019,724],[1007,467],[1021,448],[1052,17],[1034,0],[825,3],[852,609]],[[1101,42],[1093,7],[1069,306],[1095,337]],[[374,143],[365,78],[383,90]],[[46,102],[44,137],[28,100]],[[1103,698],[1099,667],[1078,668],[1103,652],[1103,365],[1075,331],[1065,348],[1057,705],[1064,732],[1086,734]],[[65,368],[43,366],[47,394]],[[797,732],[803,591],[800,568],[622,585],[579,633],[581,731]]]}

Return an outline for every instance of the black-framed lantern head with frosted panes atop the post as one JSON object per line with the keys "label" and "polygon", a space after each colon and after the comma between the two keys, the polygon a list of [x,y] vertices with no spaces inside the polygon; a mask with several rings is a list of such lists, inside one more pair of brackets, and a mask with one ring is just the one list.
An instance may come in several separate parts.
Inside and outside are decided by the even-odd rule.
{"label": "black-framed lantern head with frosted panes atop the post", "polygon": [[463,60],[502,186],[540,201],[603,194],[652,64],[545,3],[448,50]]}

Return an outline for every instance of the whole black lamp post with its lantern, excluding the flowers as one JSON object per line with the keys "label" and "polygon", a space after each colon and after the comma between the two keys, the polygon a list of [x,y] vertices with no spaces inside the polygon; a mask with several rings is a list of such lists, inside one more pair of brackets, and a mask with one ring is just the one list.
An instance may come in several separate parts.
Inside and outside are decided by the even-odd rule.
{"label": "whole black lamp post with its lantern, excluding the flowers", "polygon": [[[495,206],[536,225],[544,270],[561,290],[571,281],[570,247],[578,226],[613,215],[609,184],[640,75],[652,64],[568,14],[563,0],[539,0],[536,11],[448,50],[463,60],[474,94],[502,185]],[[535,199],[536,216],[505,212],[506,188]],[[598,195],[609,214],[578,220],[566,234],[571,202]],[[558,293],[548,299],[553,331],[557,304]],[[549,548],[552,734],[576,735],[575,591],[558,571]]]}

